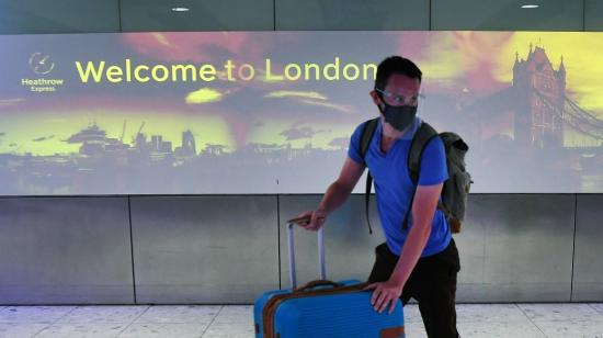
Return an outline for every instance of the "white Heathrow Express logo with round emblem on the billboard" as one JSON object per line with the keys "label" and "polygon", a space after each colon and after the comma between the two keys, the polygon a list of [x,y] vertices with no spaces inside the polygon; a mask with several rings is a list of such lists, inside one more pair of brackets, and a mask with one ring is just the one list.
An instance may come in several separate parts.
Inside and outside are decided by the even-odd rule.
{"label": "white Heathrow Express logo with round emblem on the billboard", "polygon": [[32,72],[38,78],[23,78],[21,86],[29,88],[31,92],[54,92],[64,84],[64,79],[47,79],[45,77],[55,69],[55,61],[50,55],[35,52],[30,56],[29,65]]}

